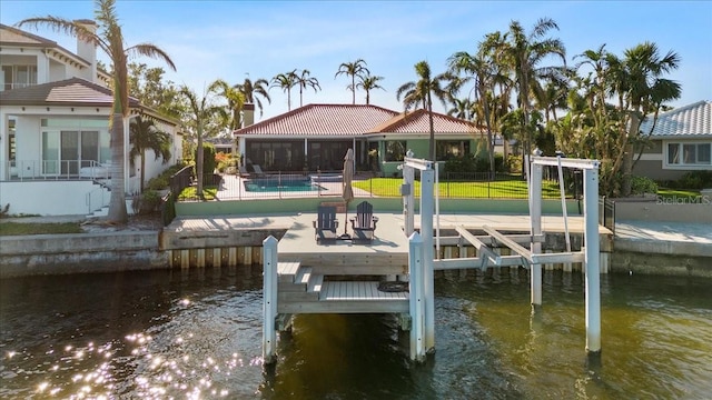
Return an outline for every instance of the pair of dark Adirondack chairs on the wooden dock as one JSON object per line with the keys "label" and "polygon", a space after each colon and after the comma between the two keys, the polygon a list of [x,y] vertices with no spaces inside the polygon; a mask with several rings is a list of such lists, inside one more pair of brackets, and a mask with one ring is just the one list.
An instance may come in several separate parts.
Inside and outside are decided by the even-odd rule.
{"label": "pair of dark Adirondack chairs on the wooden dock", "polygon": [[[350,237],[352,241],[369,243],[374,239],[378,217],[374,216],[374,207],[368,201],[362,201],[356,207],[356,217],[352,218],[350,222],[354,232]],[[314,221],[316,241],[336,240],[338,238],[337,228],[336,207],[319,206],[317,219]]]}

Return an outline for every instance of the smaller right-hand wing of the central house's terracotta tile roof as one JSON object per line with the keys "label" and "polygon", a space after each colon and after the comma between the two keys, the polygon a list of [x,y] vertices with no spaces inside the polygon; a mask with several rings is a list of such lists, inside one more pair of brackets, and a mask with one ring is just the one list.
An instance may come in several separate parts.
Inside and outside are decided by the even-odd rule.
{"label": "smaller right-hand wing of the central house's terracotta tile roof", "polygon": [[[436,133],[484,133],[485,130],[475,127],[474,123],[451,116],[433,112],[433,128]],[[431,131],[431,122],[425,109],[397,117],[374,128],[377,133],[423,133]]]}

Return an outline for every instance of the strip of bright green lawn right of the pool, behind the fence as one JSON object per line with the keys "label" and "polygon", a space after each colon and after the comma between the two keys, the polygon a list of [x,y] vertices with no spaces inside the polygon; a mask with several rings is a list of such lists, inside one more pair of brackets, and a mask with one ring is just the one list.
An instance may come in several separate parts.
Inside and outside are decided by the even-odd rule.
{"label": "strip of bright green lawn right of the pool, behind the fence", "polygon": [[[372,178],[364,181],[355,181],[354,187],[372,192],[379,197],[398,197],[403,179],[399,178]],[[520,179],[493,181],[493,182],[439,182],[441,198],[459,199],[526,199],[526,181]],[[415,196],[421,194],[421,182],[414,182]],[[558,183],[544,181],[542,184],[544,198],[560,198]]]}

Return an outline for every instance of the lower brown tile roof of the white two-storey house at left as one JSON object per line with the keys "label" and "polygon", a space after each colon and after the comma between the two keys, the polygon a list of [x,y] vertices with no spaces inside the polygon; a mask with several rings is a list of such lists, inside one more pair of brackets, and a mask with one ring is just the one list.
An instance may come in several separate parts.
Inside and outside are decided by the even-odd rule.
{"label": "lower brown tile roof of the white two-storey house at left", "polygon": [[[112,102],[111,90],[81,78],[0,92],[0,104],[2,106],[108,107]],[[136,99],[129,98],[129,106],[138,107],[139,103]]]}

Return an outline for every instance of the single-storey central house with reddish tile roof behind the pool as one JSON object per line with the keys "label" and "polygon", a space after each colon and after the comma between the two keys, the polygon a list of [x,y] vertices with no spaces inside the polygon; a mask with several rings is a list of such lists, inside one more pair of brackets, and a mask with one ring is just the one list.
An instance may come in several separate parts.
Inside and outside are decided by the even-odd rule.
{"label": "single-storey central house with reddish tile roof behind the pool", "polygon": [[[438,161],[486,151],[483,129],[436,112],[433,118]],[[245,163],[265,171],[338,171],[346,150],[353,148],[358,170],[394,176],[408,150],[427,158],[429,122],[425,110],[402,113],[372,104],[307,104],[238,129],[235,137]]]}

